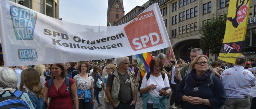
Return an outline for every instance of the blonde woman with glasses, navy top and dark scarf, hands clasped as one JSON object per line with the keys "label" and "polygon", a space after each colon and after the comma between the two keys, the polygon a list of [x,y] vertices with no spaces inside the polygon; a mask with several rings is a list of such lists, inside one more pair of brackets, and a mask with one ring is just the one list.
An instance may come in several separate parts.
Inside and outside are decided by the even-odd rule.
{"label": "blonde woman with glasses, navy top and dark scarf, hands clasped", "polygon": [[183,109],[218,109],[223,106],[226,94],[220,79],[213,76],[214,86],[207,86],[212,74],[208,58],[198,55],[190,66],[193,70],[179,84],[176,102],[182,104]]}

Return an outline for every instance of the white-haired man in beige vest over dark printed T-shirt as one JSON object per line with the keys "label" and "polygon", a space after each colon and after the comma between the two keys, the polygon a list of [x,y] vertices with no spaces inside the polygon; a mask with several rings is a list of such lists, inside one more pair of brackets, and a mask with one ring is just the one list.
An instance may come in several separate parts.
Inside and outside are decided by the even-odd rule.
{"label": "white-haired man in beige vest over dark printed T-shirt", "polygon": [[118,68],[107,77],[106,96],[115,109],[135,109],[137,90],[129,58],[116,58],[116,64]]}

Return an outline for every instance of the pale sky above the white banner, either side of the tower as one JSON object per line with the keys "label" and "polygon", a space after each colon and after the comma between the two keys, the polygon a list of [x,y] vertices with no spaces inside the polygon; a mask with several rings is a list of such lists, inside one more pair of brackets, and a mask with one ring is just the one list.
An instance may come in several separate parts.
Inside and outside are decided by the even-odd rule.
{"label": "pale sky above the white banner, either side of the tower", "polygon": [[[123,0],[125,14],[147,1]],[[106,26],[107,5],[108,0],[60,0],[59,18],[62,18],[62,21],[75,24]]]}

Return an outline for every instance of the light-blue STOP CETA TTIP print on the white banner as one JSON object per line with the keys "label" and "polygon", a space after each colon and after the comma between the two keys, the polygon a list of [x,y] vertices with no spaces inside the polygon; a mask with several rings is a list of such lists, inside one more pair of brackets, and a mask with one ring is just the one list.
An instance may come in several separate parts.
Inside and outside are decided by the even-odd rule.
{"label": "light-blue STOP CETA TTIP print on the white banner", "polygon": [[37,13],[15,6],[10,6],[10,9],[16,39],[33,39]]}

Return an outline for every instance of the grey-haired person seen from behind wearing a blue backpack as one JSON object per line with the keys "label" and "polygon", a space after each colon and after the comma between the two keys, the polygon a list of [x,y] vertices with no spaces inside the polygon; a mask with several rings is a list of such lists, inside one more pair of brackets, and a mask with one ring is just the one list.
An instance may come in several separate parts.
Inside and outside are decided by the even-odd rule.
{"label": "grey-haired person seen from behind wearing a blue backpack", "polygon": [[[0,109],[19,108],[35,109],[27,93],[16,90],[18,77],[14,70],[0,67]],[[13,101],[16,101],[16,105]]]}

